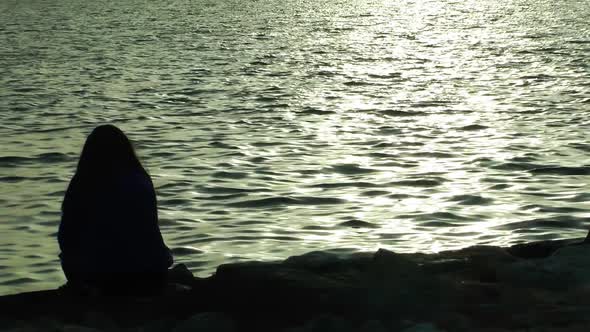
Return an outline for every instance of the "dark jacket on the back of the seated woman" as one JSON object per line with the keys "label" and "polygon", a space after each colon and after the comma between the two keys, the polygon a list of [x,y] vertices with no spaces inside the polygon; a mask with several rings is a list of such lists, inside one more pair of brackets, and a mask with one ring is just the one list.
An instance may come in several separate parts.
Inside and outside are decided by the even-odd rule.
{"label": "dark jacket on the back of the seated woman", "polygon": [[161,274],[173,263],[158,227],[155,190],[144,172],[85,185],[74,176],[58,241],[68,280]]}

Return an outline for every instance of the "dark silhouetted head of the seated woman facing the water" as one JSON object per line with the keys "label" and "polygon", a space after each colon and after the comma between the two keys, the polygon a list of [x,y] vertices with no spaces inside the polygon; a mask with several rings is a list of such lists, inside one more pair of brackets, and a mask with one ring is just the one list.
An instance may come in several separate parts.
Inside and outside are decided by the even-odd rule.
{"label": "dark silhouetted head of the seated woman facing the water", "polygon": [[110,124],[94,128],[84,143],[77,175],[98,178],[132,170],[143,171],[143,167],[129,138]]}

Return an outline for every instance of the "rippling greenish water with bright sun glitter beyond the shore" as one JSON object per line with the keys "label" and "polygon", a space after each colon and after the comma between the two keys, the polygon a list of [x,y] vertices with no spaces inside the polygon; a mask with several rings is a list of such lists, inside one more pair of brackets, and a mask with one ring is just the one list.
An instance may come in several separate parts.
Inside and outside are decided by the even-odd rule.
{"label": "rippling greenish water with bright sun glitter beyond the shore", "polygon": [[584,236],[586,0],[3,0],[0,294],[64,281],[85,136],[136,142],[177,262]]}

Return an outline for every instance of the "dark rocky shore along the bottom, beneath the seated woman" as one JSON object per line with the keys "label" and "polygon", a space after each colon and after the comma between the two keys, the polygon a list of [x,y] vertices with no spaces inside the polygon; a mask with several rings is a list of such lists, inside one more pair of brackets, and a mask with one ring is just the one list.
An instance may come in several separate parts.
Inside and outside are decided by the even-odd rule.
{"label": "dark rocky shore along the bottom, beneath the seated woman", "polygon": [[177,266],[162,296],[49,290],[0,297],[0,331],[586,331],[590,244],[583,239],[436,254],[310,252]]}

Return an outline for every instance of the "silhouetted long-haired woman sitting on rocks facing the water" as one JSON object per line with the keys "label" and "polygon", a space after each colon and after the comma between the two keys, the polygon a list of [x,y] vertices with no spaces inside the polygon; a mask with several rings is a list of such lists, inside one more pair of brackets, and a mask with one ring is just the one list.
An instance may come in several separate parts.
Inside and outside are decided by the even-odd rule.
{"label": "silhouetted long-haired woman sitting on rocks facing the water", "polygon": [[62,204],[58,241],[69,286],[146,294],[165,285],[172,256],[158,227],[154,186],[113,125],[86,139]]}

